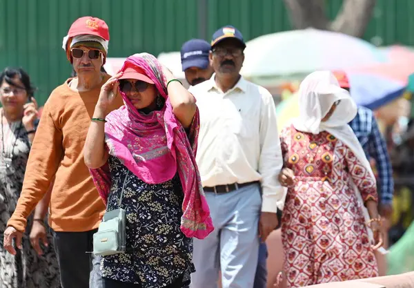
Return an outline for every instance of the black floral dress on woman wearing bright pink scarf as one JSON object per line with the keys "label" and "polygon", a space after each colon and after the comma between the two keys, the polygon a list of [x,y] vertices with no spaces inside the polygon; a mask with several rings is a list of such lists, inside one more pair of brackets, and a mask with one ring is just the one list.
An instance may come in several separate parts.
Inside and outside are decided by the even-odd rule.
{"label": "black floral dress on woman wearing bright pink scarf", "polygon": [[126,252],[104,256],[104,278],[131,282],[142,288],[159,288],[183,278],[190,283],[193,239],[180,230],[184,194],[179,177],[161,184],[147,184],[130,172],[117,157],[108,160],[112,186],[107,211],[126,210]]}

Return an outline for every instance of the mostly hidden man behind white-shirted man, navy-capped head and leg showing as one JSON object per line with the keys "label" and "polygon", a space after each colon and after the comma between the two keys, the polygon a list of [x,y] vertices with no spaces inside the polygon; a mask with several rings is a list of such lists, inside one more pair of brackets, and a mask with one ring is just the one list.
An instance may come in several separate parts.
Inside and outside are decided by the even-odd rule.
{"label": "mostly hidden man behind white-shirted man, navy-capped head and leg showing", "polygon": [[[181,47],[181,66],[186,75],[186,80],[191,86],[203,83],[213,76],[214,70],[208,59],[210,50],[211,45],[203,39],[191,39]],[[254,288],[266,288],[267,256],[266,243],[261,241]]]}

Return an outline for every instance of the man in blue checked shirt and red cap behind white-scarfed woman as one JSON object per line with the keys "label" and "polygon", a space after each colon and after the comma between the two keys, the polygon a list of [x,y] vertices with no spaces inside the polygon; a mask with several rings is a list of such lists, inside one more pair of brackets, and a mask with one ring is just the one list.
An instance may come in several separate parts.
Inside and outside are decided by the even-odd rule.
{"label": "man in blue checked shirt and red cap behind white-scarfed woman", "polygon": [[[348,76],[343,71],[333,71],[333,74],[339,82],[339,86],[351,93],[351,85],[348,81]],[[373,158],[378,173],[378,188],[379,188],[379,211],[384,220],[390,220],[393,213],[393,194],[394,194],[394,180],[393,180],[393,166],[388,155],[386,142],[380,128],[378,128],[377,119],[371,109],[363,106],[358,107],[358,112],[355,118],[349,122],[359,143],[364,148],[364,152],[368,160]],[[385,228],[386,225],[383,225]],[[384,231],[388,235],[388,231]],[[384,239],[387,246],[387,239]]]}

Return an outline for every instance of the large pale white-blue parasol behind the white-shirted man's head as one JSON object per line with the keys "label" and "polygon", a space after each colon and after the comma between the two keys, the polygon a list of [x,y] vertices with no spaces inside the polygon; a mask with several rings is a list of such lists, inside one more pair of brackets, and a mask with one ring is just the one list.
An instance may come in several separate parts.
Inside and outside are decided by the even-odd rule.
{"label": "large pale white-blue parasol behind the white-shirted man's head", "polygon": [[386,61],[385,53],[367,41],[313,28],[264,35],[246,46],[242,74],[250,78],[307,75]]}

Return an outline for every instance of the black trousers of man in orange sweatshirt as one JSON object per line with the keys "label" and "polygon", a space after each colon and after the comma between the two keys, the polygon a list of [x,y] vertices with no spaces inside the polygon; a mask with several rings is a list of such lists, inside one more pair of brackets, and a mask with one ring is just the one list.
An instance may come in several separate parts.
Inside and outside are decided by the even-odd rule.
{"label": "black trousers of man in orange sweatshirt", "polygon": [[100,258],[90,253],[96,231],[52,231],[62,288],[103,288]]}

